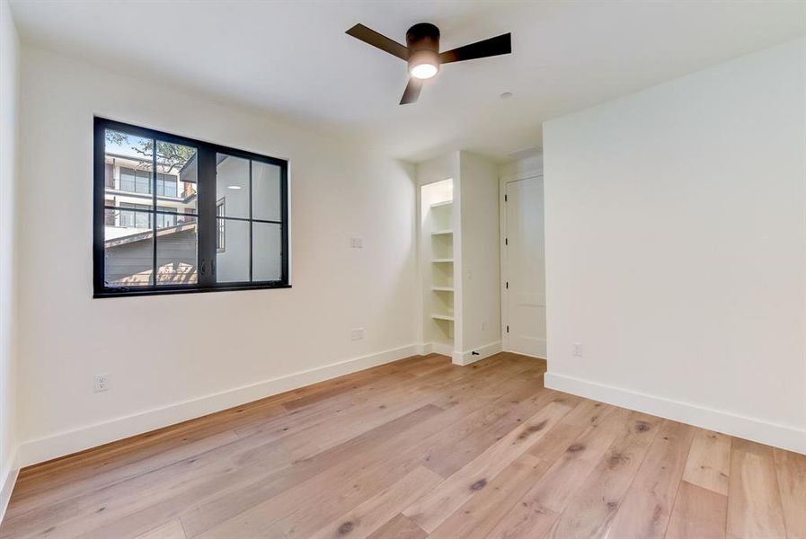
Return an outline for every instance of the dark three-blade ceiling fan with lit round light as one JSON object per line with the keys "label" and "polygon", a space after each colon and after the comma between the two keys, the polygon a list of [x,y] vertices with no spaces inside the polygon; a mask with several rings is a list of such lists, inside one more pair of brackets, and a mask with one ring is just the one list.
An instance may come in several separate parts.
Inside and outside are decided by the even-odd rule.
{"label": "dark three-blade ceiling fan with lit round light", "polygon": [[408,62],[409,75],[412,76],[409,78],[409,84],[406,84],[403,98],[400,100],[402,105],[417,101],[422,89],[422,81],[437,75],[439,66],[442,64],[512,52],[512,34],[510,33],[439,52],[439,29],[429,22],[420,22],[412,26],[406,32],[405,46],[363,24],[356,24],[347,33],[357,40],[362,40]]}

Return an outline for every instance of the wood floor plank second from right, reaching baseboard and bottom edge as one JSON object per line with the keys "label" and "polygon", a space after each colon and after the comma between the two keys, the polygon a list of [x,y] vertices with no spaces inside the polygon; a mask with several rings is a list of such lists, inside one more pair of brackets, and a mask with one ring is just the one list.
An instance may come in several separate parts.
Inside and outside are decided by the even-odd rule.
{"label": "wood floor plank second from right, reaching baseboard and bottom edge", "polygon": [[727,536],[786,536],[772,447],[733,440]]}

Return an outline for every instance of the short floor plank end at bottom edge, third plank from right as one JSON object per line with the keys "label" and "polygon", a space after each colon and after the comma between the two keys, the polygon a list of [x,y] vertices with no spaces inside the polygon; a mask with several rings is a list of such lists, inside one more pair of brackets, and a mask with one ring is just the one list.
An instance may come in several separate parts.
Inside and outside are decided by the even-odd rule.
{"label": "short floor plank end at bottom edge, third plank from right", "polygon": [[728,497],[690,482],[681,482],[666,539],[723,539]]}

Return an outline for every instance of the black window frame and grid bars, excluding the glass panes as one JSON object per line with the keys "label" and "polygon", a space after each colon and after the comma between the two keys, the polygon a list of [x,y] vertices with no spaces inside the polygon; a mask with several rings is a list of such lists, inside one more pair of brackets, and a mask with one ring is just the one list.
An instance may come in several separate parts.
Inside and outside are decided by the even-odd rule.
{"label": "black window frame and grid bars, excluding the glass panes", "polygon": [[[157,284],[156,275],[152,284],[137,287],[114,287],[105,282],[105,248],[104,228],[106,225],[106,130],[116,130],[135,137],[158,139],[161,142],[191,146],[197,150],[197,208],[198,219],[197,242],[197,283],[182,285]],[[216,241],[217,228],[217,154],[242,157],[250,161],[258,161],[279,166],[280,169],[280,220],[276,222],[281,227],[280,269],[281,277],[273,281],[241,281],[216,282]],[[156,157],[154,158],[156,161]],[[250,167],[251,169],[252,167]],[[158,171],[155,170],[152,178],[151,191],[156,199],[156,185]],[[251,183],[251,182],[250,182]],[[177,190],[178,190],[177,182]],[[250,200],[252,192],[250,190]],[[155,206],[153,213],[159,209]],[[247,220],[247,219],[242,219]],[[250,230],[252,229],[252,219]],[[289,288],[290,251],[288,228],[288,161],[278,157],[260,155],[237,148],[222,146],[190,137],[172,135],[163,131],[142,128],[136,125],[94,117],[93,121],[93,297],[120,297],[120,296],[161,296],[166,294],[186,294],[198,292],[226,292],[234,290],[257,290],[266,288]],[[260,220],[255,220],[260,222]],[[155,237],[154,250],[156,260],[156,245],[159,238]],[[252,243],[249,245],[249,272],[252,275]]]}

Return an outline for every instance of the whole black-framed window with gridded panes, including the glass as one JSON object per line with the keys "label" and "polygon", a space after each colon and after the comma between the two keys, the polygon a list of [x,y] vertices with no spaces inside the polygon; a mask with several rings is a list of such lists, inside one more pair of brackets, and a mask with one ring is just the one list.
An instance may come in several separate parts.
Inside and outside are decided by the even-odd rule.
{"label": "whole black-framed window with gridded panes, including the glass", "polygon": [[288,162],[95,119],[94,296],[288,287]]}

